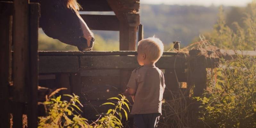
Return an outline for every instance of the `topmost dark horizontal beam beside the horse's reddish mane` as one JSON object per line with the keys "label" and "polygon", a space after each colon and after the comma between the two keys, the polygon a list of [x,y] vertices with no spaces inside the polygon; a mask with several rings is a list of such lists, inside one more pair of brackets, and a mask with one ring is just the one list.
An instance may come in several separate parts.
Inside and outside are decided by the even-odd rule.
{"label": "topmost dark horizontal beam beside the horse's reddish mane", "polygon": [[112,11],[106,0],[78,0],[81,6],[80,11]]}

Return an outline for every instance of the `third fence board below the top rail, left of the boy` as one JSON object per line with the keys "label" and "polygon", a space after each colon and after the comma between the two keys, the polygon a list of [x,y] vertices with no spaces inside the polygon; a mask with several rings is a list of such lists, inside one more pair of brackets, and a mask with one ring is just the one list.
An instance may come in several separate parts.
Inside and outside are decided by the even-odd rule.
{"label": "third fence board below the top rail, left of the boy", "polygon": [[83,86],[93,86],[93,85],[119,85],[120,76],[91,76],[91,77],[81,77]]}

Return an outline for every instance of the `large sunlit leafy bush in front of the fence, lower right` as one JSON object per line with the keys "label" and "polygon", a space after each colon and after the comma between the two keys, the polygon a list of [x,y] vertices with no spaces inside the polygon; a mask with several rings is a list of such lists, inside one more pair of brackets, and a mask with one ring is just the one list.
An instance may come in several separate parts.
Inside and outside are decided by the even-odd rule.
{"label": "large sunlit leafy bush in front of the fence, lower right", "polygon": [[[235,51],[236,52],[236,51]],[[213,72],[202,97],[205,127],[256,127],[256,58],[238,55]]]}

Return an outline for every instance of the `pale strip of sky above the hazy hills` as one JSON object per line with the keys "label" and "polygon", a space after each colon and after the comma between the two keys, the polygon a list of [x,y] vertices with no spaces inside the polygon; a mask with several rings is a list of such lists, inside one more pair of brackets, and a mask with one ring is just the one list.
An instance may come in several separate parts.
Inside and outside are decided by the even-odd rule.
{"label": "pale strip of sky above the hazy hills", "polygon": [[140,0],[141,4],[178,4],[178,5],[225,5],[246,6],[252,0]]}

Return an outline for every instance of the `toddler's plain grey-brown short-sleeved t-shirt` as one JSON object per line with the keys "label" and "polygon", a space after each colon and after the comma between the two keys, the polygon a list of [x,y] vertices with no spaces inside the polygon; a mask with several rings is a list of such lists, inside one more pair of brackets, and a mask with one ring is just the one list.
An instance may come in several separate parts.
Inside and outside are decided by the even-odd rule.
{"label": "toddler's plain grey-brown short-sleeved t-shirt", "polygon": [[133,70],[128,88],[136,90],[131,114],[162,113],[163,72],[154,65]]}

